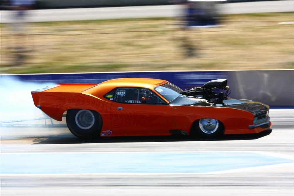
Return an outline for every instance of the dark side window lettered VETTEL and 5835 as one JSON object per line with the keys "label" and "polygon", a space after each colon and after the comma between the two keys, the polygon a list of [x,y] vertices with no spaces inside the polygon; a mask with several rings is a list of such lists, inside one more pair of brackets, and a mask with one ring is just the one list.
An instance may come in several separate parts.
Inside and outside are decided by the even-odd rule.
{"label": "dark side window lettered VETTEL and 5835", "polygon": [[127,104],[161,104],[165,103],[161,98],[149,89],[143,88],[117,88],[113,94],[113,100]]}

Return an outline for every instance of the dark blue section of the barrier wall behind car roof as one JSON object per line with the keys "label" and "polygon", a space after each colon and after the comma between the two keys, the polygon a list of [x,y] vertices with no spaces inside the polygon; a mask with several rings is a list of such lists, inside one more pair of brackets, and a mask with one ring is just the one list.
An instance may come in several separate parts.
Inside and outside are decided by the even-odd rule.
{"label": "dark blue section of the barrier wall behind car roof", "polygon": [[[9,75],[2,75],[9,76]],[[159,78],[171,81],[182,89],[193,88],[219,78],[227,78],[225,71],[170,71],[170,72],[101,72],[13,75],[24,82],[42,83],[101,83],[114,78]]]}

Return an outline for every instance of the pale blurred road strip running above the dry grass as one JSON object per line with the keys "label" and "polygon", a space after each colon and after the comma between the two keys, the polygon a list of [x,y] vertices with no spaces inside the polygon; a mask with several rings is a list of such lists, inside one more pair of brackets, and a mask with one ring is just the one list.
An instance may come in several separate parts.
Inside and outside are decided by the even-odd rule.
{"label": "pale blurred road strip running above the dry grass", "polygon": [[[184,7],[182,5],[162,5],[106,8],[45,9],[30,11],[26,20],[28,22],[45,22],[149,17],[177,17],[183,15],[183,8]],[[219,4],[218,10],[221,14],[293,12],[294,2],[292,0],[283,0]],[[0,11],[0,23],[10,22],[13,22],[13,13],[7,10]]]}

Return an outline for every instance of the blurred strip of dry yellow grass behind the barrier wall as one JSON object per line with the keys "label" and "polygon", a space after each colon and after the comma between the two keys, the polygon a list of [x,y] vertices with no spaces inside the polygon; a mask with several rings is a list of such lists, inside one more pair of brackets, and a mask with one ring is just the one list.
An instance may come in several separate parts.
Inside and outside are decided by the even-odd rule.
{"label": "blurred strip of dry yellow grass behind the barrier wall", "polygon": [[[223,27],[185,32],[174,18],[32,23],[23,39],[1,24],[0,71],[293,69],[294,28],[282,21],[293,13],[227,15]],[[17,66],[16,42],[27,50]]]}

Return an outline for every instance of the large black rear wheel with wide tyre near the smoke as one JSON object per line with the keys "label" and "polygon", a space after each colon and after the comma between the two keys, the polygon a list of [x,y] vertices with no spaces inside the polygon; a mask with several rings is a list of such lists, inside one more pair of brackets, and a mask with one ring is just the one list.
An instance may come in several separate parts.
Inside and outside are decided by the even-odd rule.
{"label": "large black rear wheel with wide tyre near the smoke", "polygon": [[102,119],[93,110],[71,109],[67,111],[66,124],[78,138],[96,138],[100,135]]}

